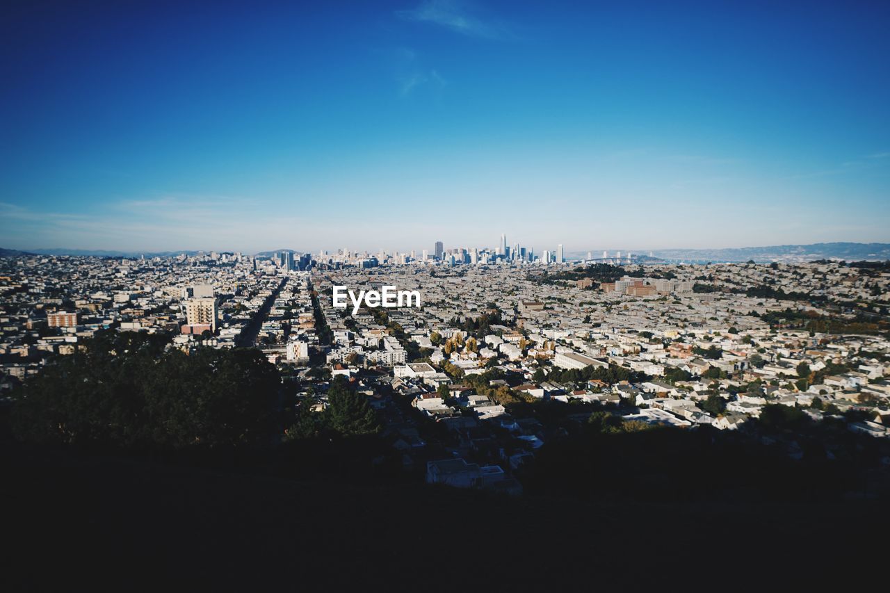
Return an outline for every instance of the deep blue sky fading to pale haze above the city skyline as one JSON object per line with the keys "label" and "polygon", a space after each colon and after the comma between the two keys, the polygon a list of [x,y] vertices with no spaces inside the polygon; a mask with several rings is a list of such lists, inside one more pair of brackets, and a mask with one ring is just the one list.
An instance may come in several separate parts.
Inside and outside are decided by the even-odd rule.
{"label": "deep blue sky fading to pale haze above the city skyline", "polygon": [[890,3],[0,14],[0,247],[890,242]]}

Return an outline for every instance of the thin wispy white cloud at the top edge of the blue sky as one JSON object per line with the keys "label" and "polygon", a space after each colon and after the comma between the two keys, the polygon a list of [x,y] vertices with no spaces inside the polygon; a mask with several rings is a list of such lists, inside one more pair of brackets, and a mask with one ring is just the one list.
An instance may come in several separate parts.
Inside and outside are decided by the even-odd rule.
{"label": "thin wispy white cloud at the top edge of the blue sky", "polygon": [[396,11],[403,20],[429,23],[455,33],[483,39],[510,39],[515,30],[506,22],[485,18],[478,5],[458,0],[425,0],[416,8]]}

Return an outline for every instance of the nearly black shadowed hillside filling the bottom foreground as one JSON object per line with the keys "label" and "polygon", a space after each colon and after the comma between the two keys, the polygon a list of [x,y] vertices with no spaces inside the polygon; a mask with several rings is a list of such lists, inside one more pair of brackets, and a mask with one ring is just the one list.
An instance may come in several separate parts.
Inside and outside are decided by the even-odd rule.
{"label": "nearly black shadowed hillside filling the bottom foreground", "polygon": [[888,526],[861,500],[589,505],[35,451],[4,466],[6,590],[800,587],[880,566],[866,534]]}

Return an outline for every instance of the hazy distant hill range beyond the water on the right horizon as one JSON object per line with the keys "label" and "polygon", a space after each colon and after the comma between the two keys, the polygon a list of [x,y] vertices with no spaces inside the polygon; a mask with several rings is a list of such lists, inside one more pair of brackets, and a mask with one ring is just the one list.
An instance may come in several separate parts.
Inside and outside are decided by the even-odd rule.
{"label": "hazy distant hill range beyond the water on the right horizon", "polygon": [[814,259],[860,260],[890,259],[888,243],[813,243],[812,245],[774,245],[735,249],[657,249],[653,256],[663,259],[708,260],[713,262],[806,262]]}

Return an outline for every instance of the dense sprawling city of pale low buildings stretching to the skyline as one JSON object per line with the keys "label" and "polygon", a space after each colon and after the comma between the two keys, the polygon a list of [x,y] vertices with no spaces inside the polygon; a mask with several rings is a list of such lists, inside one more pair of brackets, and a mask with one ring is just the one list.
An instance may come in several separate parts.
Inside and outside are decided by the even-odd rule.
{"label": "dense sprawling city of pale low buildings stretching to the skyline", "polygon": [[[885,264],[465,259],[384,254],[368,265],[367,255],[345,250],[324,258],[5,257],[4,405],[43,423],[16,428],[23,421],[13,413],[26,439],[114,441],[93,426],[118,422],[97,411],[108,402],[85,404],[95,407],[89,419],[54,403],[79,389],[75,367],[60,374],[66,360],[101,364],[89,356],[103,347],[123,364],[150,343],[155,366],[127,379],[139,390],[157,384],[150,375],[164,364],[174,369],[174,354],[214,366],[230,360],[225,352],[249,350],[251,364],[274,365],[277,377],[267,441],[372,435],[368,464],[427,483],[509,495],[571,490],[558,472],[586,472],[578,439],[668,431],[699,435],[689,438],[703,449],[719,435],[790,463],[853,464],[877,476],[873,488],[886,484]],[[362,305],[353,314],[352,305],[334,306],[336,286],[422,297],[419,306]],[[128,346],[118,352],[121,337]],[[182,373],[184,383],[205,374],[164,372]],[[209,375],[204,386],[214,385]],[[158,397],[152,392],[146,402]],[[259,396],[247,389],[238,397]],[[48,409],[53,418],[42,416]],[[141,430],[165,446],[244,444],[243,433],[227,441],[206,426],[231,421],[185,418],[176,439],[167,425]],[[192,435],[190,422],[204,432]],[[559,451],[570,465],[554,460]]]}

